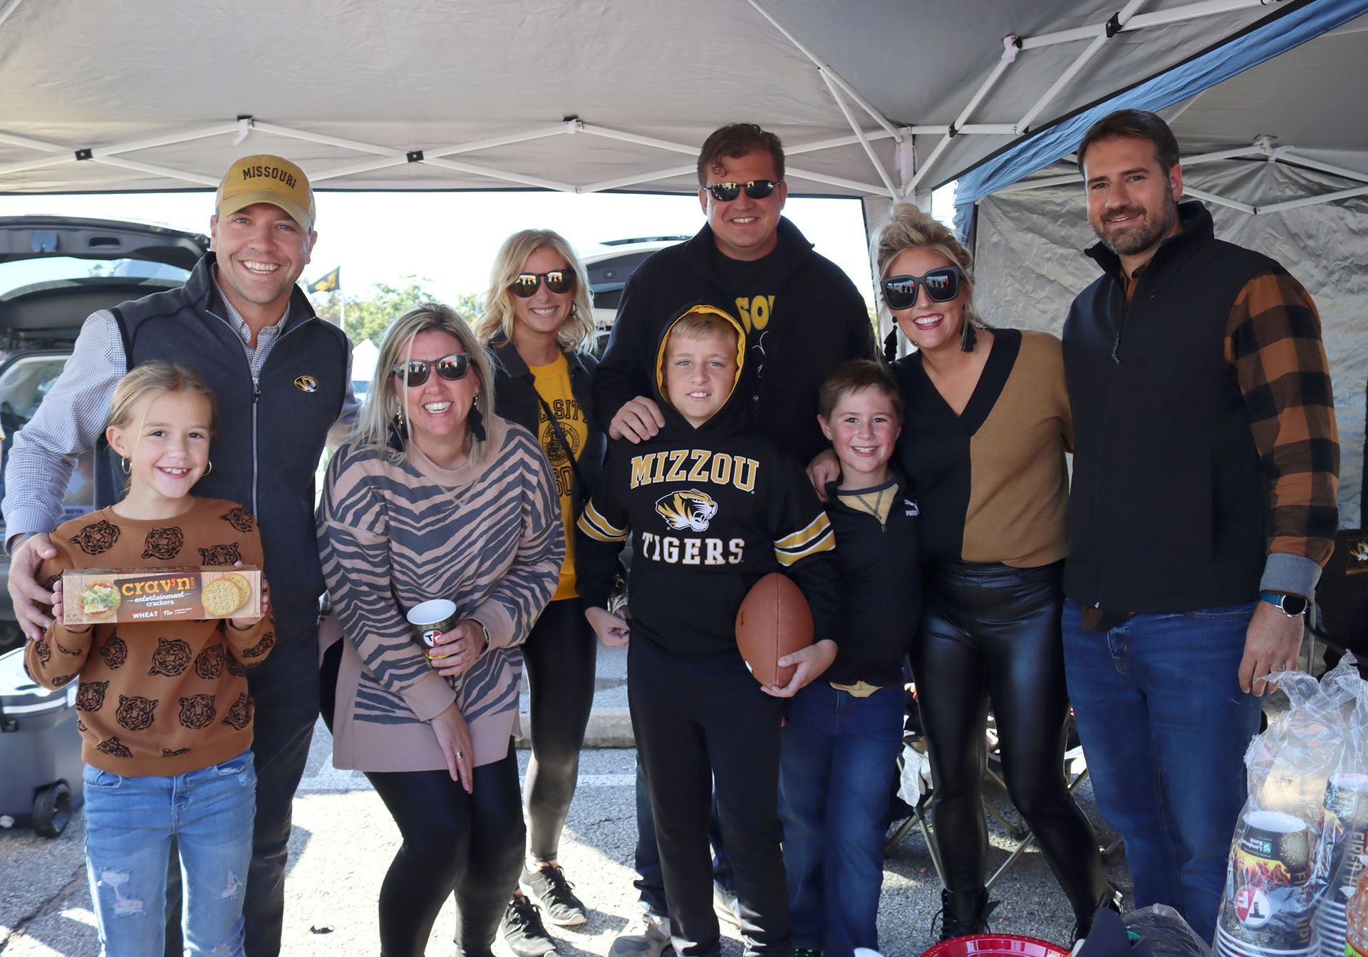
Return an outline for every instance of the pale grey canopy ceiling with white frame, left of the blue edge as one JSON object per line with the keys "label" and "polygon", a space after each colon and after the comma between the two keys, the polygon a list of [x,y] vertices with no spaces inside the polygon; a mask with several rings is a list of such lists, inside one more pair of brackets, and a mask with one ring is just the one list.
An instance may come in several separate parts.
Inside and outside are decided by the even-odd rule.
{"label": "pale grey canopy ceiling with white frame, left of the blue edge", "polygon": [[205,186],[245,152],[338,189],[689,190],[754,119],[795,192],[904,193],[1297,1],[0,0],[0,192]]}

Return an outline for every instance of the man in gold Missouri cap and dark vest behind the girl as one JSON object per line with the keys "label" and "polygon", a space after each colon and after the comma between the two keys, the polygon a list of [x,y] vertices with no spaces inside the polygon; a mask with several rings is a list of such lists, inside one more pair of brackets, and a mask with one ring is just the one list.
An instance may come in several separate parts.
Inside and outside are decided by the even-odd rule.
{"label": "man in gold Missouri cap and dark vest behind the girl", "polygon": [[[194,493],[244,502],[260,522],[276,623],[268,635],[272,653],[248,671],[256,705],[257,811],[252,865],[239,875],[239,893],[249,957],[280,950],[290,802],[319,713],[315,635],[323,575],[313,535],[313,474],[330,430],[350,424],[357,409],[352,344],[313,314],[295,285],[317,238],[315,220],[309,179],[290,160],[245,156],[228,167],[209,219],[211,252],[185,285],[85,320],[62,375],[15,435],[3,502],[12,552],[10,597],[25,635],[34,639],[51,620],[52,596],[33,571],[55,554],[48,531],[63,519],[77,457],[101,441],[118,381],[134,366],[160,359],[189,366],[212,386],[220,422],[213,470]],[[122,487],[119,461],[103,449],[97,504],[116,501]],[[198,556],[185,561],[200,564]],[[171,887],[167,954],[182,953],[178,898]]]}

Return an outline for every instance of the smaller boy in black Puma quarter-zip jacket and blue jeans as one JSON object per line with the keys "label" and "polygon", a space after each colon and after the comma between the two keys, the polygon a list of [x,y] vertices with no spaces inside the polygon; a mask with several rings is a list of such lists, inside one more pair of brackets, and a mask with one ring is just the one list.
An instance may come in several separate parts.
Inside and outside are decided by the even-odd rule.
{"label": "smaller boy in black Puma quarter-zip jacket and blue jeans", "polygon": [[826,486],[841,596],[836,661],[788,702],[780,817],[796,957],[878,950],[878,893],[903,659],[921,620],[917,502],[889,457],[903,423],[897,383],[877,361],[839,367],[818,423],[841,464]]}

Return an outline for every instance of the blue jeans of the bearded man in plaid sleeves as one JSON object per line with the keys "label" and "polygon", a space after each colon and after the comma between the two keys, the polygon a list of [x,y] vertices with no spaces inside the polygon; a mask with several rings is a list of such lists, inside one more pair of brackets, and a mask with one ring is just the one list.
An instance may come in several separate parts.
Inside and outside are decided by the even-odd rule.
{"label": "blue jeans of the bearded man in plaid sleeves", "polygon": [[1082,627],[1064,602],[1064,671],[1093,793],[1126,841],[1135,906],[1168,904],[1211,943],[1245,749],[1260,700],[1238,668],[1254,602]]}

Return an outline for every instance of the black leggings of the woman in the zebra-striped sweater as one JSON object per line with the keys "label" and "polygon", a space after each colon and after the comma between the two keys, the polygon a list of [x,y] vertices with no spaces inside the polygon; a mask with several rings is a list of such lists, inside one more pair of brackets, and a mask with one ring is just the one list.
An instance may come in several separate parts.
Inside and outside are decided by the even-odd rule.
{"label": "black leggings of the woman in the zebra-striped sweater", "polygon": [[[341,643],[323,657],[323,717],[332,727]],[[523,868],[523,801],[517,753],[475,768],[475,793],[446,771],[367,772],[399,827],[380,884],[382,957],[421,957],[438,912],[456,891],[457,938],[465,957],[488,957]]]}

